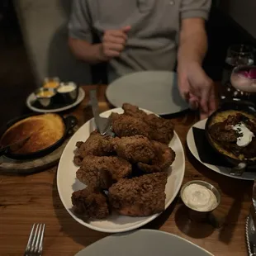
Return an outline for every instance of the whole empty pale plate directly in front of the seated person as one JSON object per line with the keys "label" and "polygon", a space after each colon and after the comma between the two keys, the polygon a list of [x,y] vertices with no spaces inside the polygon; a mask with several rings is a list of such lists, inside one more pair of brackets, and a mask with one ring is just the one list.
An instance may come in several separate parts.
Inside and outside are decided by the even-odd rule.
{"label": "whole empty pale plate directly in front of the seated person", "polygon": [[130,73],[111,83],[106,96],[115,107],[129,102],[158,115],[174,114],[188,108],[178,92],[176,73],[169,71]]}

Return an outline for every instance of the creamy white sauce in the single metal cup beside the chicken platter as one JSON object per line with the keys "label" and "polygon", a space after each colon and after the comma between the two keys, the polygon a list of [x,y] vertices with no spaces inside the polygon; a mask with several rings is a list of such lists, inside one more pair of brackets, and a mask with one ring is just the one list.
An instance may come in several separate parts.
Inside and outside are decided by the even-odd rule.
{"label": "creamy white sauce in the single metal cup beside the chicken platter", "polygon": [[211,211],[217,206],[215,194],[207,187],[191,184],[183,190],[184,203],[196,211]]}

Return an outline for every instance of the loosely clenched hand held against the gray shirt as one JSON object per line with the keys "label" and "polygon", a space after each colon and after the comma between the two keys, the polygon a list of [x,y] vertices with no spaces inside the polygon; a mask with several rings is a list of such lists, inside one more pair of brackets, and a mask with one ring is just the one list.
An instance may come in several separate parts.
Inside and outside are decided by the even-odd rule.
{"label": "loosely clenched hand held against the gray shirt", "polygon": [[130,26],[125,26],[120,30],[105,31],[102,38],[101,55],[103,60],[110,60],[118,57],[124,50],[127,40],[127,32]]}

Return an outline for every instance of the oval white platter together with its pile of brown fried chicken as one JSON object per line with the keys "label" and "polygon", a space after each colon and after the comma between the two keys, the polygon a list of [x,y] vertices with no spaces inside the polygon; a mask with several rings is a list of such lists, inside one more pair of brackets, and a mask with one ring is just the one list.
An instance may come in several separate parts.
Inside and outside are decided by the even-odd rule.
{"label": "oval white platter together with its pile of brown fried chicken", "polygon": [[173,123],[125,103],[105,111],[114,136],[94,120],[69,140],[57,186],[64,207],[82,225],[108,233],[135,230],[154,220],[183,183],[183,145]]}

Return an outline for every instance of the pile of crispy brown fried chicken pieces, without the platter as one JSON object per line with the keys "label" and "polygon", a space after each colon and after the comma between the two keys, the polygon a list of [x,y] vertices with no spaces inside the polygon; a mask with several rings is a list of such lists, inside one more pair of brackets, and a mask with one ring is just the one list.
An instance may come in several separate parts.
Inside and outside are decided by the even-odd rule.
{"label": "pile of crispy brown fried chicken pieces, without the platter", "polygon": [[106,218],[111,211],[125,216],[164,211],[168,168],[175,159],[168,147],[173,123],[128,103],[123,109],[111,114],[115,138],[95,130],[77,142],[73,162],[78,180],[88,187],[73,192],[72,203],[88,219]]}

